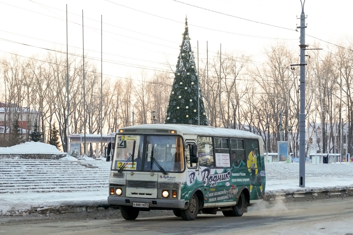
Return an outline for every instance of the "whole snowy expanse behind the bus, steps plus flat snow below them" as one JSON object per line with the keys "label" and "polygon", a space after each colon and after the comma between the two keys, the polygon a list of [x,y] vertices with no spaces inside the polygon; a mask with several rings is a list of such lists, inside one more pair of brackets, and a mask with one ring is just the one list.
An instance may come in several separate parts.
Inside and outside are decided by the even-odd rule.
{"label": "whole snowy expanse behind the bus, steps plus flat snow below them", "polygon": [[[107,200],[110,162],[0,160],[0,215],[62,201]],[[266,190],[299,188],[298,163],[267,163]],[[353,164],[306,164],[306,187],[353,185]]]}

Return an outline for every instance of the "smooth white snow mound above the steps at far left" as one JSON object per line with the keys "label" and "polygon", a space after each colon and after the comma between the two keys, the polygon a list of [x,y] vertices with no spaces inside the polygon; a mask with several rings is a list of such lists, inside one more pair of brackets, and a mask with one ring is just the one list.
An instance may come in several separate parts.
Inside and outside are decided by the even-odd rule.
{"label": "smooth white snow mound above the steps at far left", "polygon": [[25,142],[11,147],[0,147],[0,154],[66,154],[51,144]]}

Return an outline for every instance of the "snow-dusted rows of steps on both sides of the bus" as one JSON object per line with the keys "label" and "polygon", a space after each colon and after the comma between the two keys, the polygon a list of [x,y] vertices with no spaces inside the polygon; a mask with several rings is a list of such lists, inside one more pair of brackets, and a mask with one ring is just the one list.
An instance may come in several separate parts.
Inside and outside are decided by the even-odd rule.
{"label": "snow-dusted rows of steps on both sides of the bus", "polygon": [[[266,163],[265,169],[268,188],[297,185],[298,163]],[[105,161],[1,159],[0,195],[97,192],[105,196],[109,171],[110,163]],[[353,164],[305,164],[305,174],[307,182],[331,180],[335,181],[331,186],[346,185],[340,182],[353,179]]]}

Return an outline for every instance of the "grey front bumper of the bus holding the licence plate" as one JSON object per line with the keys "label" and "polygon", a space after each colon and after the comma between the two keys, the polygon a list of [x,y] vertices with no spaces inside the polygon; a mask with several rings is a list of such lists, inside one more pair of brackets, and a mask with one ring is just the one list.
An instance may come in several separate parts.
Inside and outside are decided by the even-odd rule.
{"label": "grey front bumper of the bus holding the licence plate", "polygon": [[185,200],[108,196],[108,204],[110,205],[132,206],[134,202],[149,203],[149,209],[187,209],[187,202],[185,203]]}

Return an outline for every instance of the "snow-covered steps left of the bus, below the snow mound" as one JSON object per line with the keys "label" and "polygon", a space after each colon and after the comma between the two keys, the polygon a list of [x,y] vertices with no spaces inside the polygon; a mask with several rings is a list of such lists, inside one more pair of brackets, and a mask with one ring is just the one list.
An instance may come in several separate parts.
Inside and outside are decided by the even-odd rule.
{"label": "snow-covered steps left of the bus, below the snow mound", "polygon": [[103,161],[0,160],[0,194],[102,191],[110,164]]}

